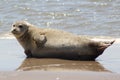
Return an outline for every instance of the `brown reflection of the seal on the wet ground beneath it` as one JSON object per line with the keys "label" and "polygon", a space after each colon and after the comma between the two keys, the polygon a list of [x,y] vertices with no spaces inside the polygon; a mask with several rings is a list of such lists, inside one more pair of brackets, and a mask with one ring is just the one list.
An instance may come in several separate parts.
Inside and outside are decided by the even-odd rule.
{"label": "brown reflection of the seal on the wet ground beneath it", "polygon": [[62,59],[25,59],[18,71],[107,71],[95,61],[72,61]]}

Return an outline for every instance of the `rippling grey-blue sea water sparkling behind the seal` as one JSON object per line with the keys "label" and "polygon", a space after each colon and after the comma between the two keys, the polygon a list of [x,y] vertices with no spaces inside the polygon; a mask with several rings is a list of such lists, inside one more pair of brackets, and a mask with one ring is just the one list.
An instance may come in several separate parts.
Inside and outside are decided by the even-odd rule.
{"label": "rippling grey-blue sea water sparkling behind the seal", "polygon": [[27,20],[38,27],[58,28],[75,34],[120,35],[120,0],[1,0],[0,33]]}

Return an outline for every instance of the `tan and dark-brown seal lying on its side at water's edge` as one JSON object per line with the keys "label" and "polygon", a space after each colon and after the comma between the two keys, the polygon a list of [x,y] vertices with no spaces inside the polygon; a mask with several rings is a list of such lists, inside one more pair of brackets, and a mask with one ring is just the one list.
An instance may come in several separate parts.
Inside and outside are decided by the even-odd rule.
{"label": "tan and dark-brown seal lying on its side at water's edge", "polygon": [[27,21],[12,25],[12,34],[27,57],[94,60],[114,41],[93,41],[62,30],[38,28]]}

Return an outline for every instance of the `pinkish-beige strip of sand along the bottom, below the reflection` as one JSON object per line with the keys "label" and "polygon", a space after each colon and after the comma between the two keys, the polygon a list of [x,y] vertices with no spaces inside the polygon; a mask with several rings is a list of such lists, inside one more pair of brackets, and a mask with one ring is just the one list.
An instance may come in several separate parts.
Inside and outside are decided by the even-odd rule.
{"label": "pinkish-beige strip of sand along the bottom, below the reflection", "polygon": [[9,71],[0,72],[0,80],[120,80],[120,74],[108,72],[53,72],[53,71]]}

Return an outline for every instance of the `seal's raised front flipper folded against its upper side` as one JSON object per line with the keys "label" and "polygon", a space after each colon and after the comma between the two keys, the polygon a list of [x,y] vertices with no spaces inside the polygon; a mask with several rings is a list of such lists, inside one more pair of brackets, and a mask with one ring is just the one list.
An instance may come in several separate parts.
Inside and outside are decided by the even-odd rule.
{"label": "seal's raised front flipper folded against its upper side", "polygon": [[45,35],[39,34],[39,36],[38,35],[34,36],[34,41],[38,48],[43,48],[47,39]]}

